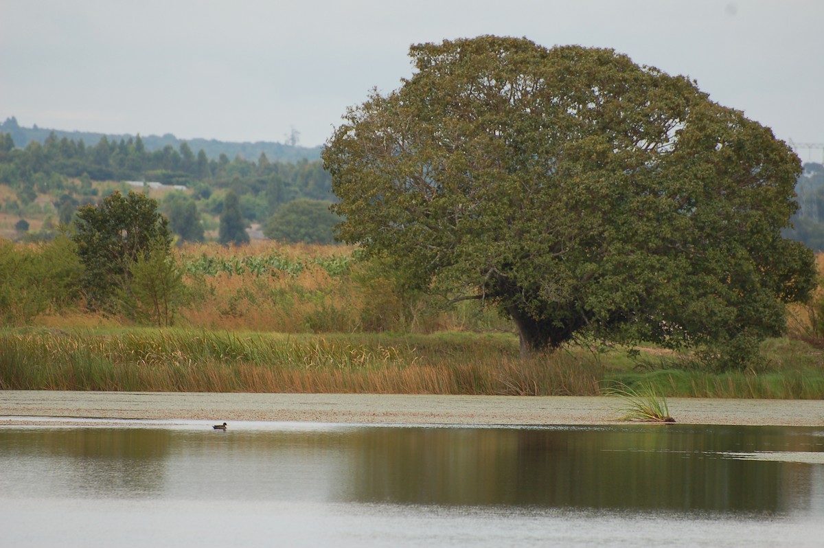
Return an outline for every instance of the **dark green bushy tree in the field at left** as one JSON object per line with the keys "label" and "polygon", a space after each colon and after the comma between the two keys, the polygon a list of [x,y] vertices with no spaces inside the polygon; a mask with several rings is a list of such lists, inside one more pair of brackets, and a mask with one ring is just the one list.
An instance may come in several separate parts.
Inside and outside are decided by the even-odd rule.
{"label": "dark green bushy tree in the field at left", "polygon": [[113,309],[118,293],[129,293],[131,268],[152,249],[171,247],[168,221],[145,194],[115,192],[101,204],[77,209],[72,240],[85,273],[82,286],[92,309]]}

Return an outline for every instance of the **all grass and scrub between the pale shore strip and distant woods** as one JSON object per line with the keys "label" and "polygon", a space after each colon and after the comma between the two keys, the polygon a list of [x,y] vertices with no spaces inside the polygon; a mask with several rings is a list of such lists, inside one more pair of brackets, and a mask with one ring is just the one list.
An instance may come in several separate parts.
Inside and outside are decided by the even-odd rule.
{"label": "all grass and scrub between the pale shore strip and distant woods", "polygon": [[173,325],[159,328],[89,310],[70,250],[68,239],[0,242],[0,389],[824,397],[821,289],[790,308],[789,336],[719,372],[700,353],[588,340],[522,358],[496,311],[443,307],[345,246],[176,248],[181,291]]}

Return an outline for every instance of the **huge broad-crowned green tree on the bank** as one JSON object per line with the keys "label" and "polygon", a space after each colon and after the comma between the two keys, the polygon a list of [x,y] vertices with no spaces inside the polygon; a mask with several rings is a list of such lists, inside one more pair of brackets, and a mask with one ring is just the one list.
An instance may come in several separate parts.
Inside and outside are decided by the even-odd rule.
{"label": "huge broad-crowned green tree on the bank", "polygon": [[780,236],[798,157],[688,78],[494,36],[410,56],[323,152],[339,236],[496,304],[524,351],[587,333],[740,365],[814,286],[812,253]]}

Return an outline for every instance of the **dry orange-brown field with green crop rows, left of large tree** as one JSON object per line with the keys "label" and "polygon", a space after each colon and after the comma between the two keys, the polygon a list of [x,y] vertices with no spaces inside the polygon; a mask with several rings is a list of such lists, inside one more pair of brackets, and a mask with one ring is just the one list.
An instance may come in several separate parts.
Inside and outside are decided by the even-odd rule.
{"label": "dry orange-brown field with green crop rows, left of large tree", "polygon": [[206,330],[354,333],[386,330],[511,330],[477,302],[442,310],[401,294],[352,259],[346,246],[186,245],[177,250],[188,302],[177,325]]}

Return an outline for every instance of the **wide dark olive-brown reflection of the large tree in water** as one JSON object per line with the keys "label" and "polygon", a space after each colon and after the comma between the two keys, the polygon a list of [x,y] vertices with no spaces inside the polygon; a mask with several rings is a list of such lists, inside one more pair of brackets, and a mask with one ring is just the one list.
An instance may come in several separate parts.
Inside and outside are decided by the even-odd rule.
{"label": "wide dark olive-brown reflection of the large tree in water", "polygon": [[807,507],[810,466],[719,452],[792,450],[753,427],[363,429],[346,498],[400,504],[782,512]]}

